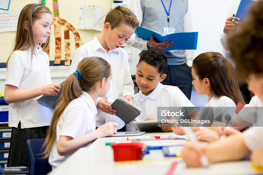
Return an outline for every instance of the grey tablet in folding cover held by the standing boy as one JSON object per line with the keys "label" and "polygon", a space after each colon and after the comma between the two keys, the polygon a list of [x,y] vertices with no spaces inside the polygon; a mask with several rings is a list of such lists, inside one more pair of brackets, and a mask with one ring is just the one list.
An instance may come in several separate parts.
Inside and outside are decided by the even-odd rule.
{"label": "grey tablet in folding cover held by the standing boy", "polygon": [[115,115],[122,119],[122,121],[124,121],[126,124],[129,124],[131,121],[133,121],[143,111],[138,106],[134,105],[123,97],[116,99],[110,106],[112,109],[116,110]]}

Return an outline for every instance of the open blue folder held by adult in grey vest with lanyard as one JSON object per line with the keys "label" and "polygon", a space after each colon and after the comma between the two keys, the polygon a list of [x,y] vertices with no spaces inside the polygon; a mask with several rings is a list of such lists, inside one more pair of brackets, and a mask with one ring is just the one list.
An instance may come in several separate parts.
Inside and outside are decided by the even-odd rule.
{"label": "open blue folder held by adult in grey vest with lanyard", "polygon": [[159,43],[167,40],[173,41],[174,43],[170,47],[163,49],[163,52],[169,50],[195,50],[197,47],[198,32],[181,32],[162,35],[154,30],[138,26],[134,33],[138,37],[146,40],[150,40],[151,35],[153,35],[154,39]]}

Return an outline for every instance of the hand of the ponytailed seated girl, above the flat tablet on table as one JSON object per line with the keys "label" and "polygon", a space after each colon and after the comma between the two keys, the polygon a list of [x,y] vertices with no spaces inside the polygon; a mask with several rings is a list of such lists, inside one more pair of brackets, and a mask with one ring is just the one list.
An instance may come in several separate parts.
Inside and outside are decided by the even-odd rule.
{"label": "hand of the ponytailed seated girl, above the flat tablet on table", "polygon": [[98,127],[96,131],[99,133],[99,137],[106,137],[117,133],[117,125],[118,123],[115,122],[107,122]]}

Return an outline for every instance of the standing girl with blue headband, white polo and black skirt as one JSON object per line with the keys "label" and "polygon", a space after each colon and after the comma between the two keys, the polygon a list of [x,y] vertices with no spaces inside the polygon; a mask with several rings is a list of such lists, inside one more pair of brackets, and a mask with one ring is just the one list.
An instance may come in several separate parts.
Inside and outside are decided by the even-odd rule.
{"label": "standing girl with blue headband, white polo and black skirt", "polygon": [[8,126],[12,127],[7,167],[30,166],[28,139],[45,138],[53,110],[39,104],[41,95],[55,96],[48,54],[52,13],[40,4],[28,4],[20,12],[12,54],[7,65],[4,98],[9,104]]}

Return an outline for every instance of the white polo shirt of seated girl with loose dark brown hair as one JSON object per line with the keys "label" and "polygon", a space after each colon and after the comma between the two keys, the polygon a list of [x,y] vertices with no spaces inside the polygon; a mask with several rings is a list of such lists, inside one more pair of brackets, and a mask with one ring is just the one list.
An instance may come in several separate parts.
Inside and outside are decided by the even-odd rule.
{"label": "white polo shirt of seated girl with loose dark brown hair", "polygon": [[[227,96],[220,96],[220,97],[213,96],[205,104],[205,107],[212,107],[214,111],[214,119],[216,119],[220,115],[220,113],[223,112],[222,117],[220,118],[219,121],[221,121],[222,119],[222,122],[224,123],[214,122],[212,126],[231,126],[232,122],[234,122],[235,120],[233,118],[231,119],[231,122],[228,122],[228,124],[226,124],[227,115],[231,115],[232,117],[232,114],[235,112],[235,109],[236,109],[236,103],[234,102],[234,100],[232,100],[231,98]],[[213,107],[216,107],[216,108],[213,108]]]}

